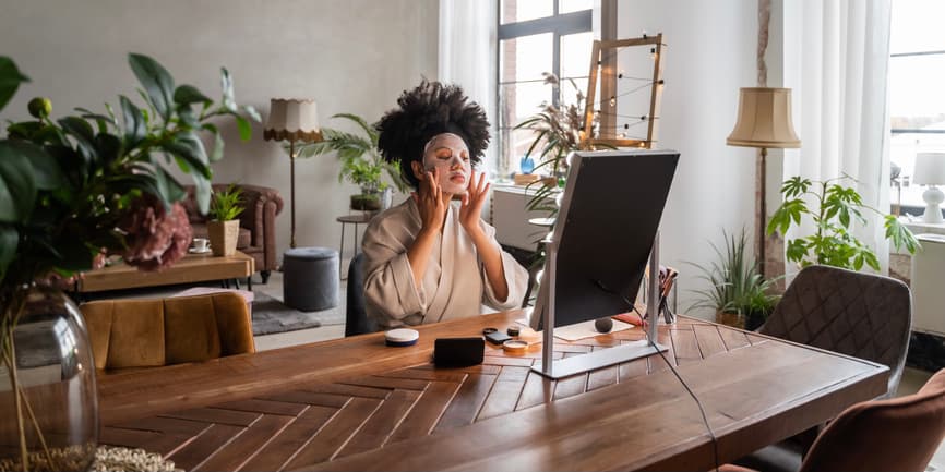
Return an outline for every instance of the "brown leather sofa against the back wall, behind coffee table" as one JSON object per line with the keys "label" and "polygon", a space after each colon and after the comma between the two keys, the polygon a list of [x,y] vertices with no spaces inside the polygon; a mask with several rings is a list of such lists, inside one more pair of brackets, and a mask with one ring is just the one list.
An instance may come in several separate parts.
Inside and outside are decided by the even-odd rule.
{"label": "brown leather sofa against the back wall, behind coffee table", "polygon": [[[234,184],[242,189],[243,213],[240,214],[240,231],[237,239],[237,251],[255,259],[256,270],[263,283],[270,279],[270,274],[278,266],[276,261],[276,216],[283,210],[283,197],[275,189],[264,186]],[[225,191],[229,184],[214,184],[214,192]],[[201,215],[194,201],[193,185],[187,187],[188,198],[184,208],[193,227],[194,238],[206,238],[207,217]]]}

